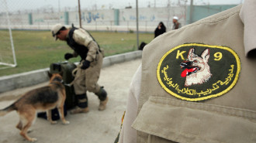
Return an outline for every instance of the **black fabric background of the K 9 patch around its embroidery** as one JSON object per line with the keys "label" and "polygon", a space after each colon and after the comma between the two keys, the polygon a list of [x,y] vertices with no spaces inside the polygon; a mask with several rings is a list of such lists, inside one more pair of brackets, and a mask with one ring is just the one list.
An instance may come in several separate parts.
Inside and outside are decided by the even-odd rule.
{"label": "black fabric background of the K 9 patch around its embroidery", "polygon": [[[209,68],[210,72],[212,73],[212,77],[205,83],[202,84],[196,84],[189,86],[189,89],[196,89],[197,92],[206,91],[207,89],[213,88],[213,83],[216,83],[218,80],[225,81],[228,77],[228,74],[230,73],[231,66],[234,65],[234,76],[232,77],[232,80],[227,85],[220,86],[220,83],[218,85],[220,86],[219,89],[212,91],[211,94],[207,95],[201,95],[200,97],[207,97],[209,95],[218,94],[222,92],[223,90],[226,90],[228,87],[230,87],[230,84],[234,82],[234,77],[236,77],[237,74],[237,60],[235,56],[230,53],[230,51],[227,51],[227,49],[220,49],[220,48],[210,48],[206,46],[183,46],[178,49],[173,50],[171,53],[168,53],[168,55],[164,58],[164,60],[161,63],[160,66],[160,77],[162,83],[164,83],[165,87],[167,87],[169,90],[174,92],[175,94],[178,94],[182,97],[188,97],[188,98],[198,98],[198,95],[188,95],[188,94],[182,94],[178,93],[177,90],[175,90],[173,87],[169,87],[167,84],[167,81],[164,80],[164,73],[161,71],[166,67],[167,65],[168,70],[166,72],[168,73],[168,77],[172,78],[173,83],[178,83],[179,89],[187,88],[185,87],[185,77],[181,77],[181,73],[185,69],[181,69],[180,63],[182,63],[184,60],[182,60],[181,56],[179,56],[178,59],[176,59],[176,55],[178,50],[180,52],[186,51],[186,53],[183,54],[185,60],[188,57],[189,49],[195,49],[195,55],[201,56],[202,52],[205,49],[209,49]],[[221,60],[214,60],[216,57],[214,56],[215,53],[220,52],[222,53],[222,59]]]}

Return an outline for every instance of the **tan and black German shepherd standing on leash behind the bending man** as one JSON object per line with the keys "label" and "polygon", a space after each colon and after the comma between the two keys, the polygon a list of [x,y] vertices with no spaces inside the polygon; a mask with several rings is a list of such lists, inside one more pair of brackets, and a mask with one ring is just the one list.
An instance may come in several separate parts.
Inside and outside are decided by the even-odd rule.
{"label": "tan and black German shepherd standing on leash behind the bending man", "polygon": [[65,88],[61,83],[62,77],[59,73],[50,74],[50,83],[46,87],[40,87],[30,90],[23,94],[19,100],[16,100],[9,107],[0,110],[0,116],[4,116],[11,111],[17,111],[19,114],[19,123],[16,128],[20,130],[20,135],[28,141],[36,141],[36,138],[30,138],[27,134],[29,127],[36,119],[37,111],[47,111],[47,120],[51,124],[56,124],[57,121],[52,121],[51,110],[57,107],[63,124],[69,124],[64,118],[64,101],[66,99]]}

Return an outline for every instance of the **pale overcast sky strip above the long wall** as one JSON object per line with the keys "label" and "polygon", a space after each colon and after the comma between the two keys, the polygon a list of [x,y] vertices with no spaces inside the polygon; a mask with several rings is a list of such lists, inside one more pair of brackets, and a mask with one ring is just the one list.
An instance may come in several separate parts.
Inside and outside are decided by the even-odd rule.
{"label": "pale overcast sky strip above the long wall", "polygon": [[[193,0],[194,5],[229,5],[240,4],[244,0]],[[8,3],[9,10],[43,9],[43,8],[76,8],[78,0],[0,0],[0,5]],[[169,4],[190,4],[190,0],[138,0],[139,8],[166,7]],[[136,0],[80,0],[81,9],[125,9],[127,6],[136,8]],[[0,6],[1,9],[1,6]]]}

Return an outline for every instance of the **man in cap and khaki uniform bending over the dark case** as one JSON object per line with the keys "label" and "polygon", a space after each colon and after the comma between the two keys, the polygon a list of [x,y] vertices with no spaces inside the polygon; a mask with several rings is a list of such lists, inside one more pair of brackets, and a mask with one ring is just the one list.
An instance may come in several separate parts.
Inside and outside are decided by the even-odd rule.
{"label": "man in cap and khaki uniform bending over the dark case", "polygon": [[88,97],[86,91],[95,93],[100,100],[99,111],[106,109],[108,97],[106,90],[97,83],[102,67],[103,54],[98,43],[85,29],[72,26],[67,28],[61,24],[55,25],[51,32],[54,38],[66,41],[74,53],[66,53],[66,60],[81,56],[81,62],[74,77],[74,92],[78,98],[78,106],[71,110],[71,114],[88,112]]}

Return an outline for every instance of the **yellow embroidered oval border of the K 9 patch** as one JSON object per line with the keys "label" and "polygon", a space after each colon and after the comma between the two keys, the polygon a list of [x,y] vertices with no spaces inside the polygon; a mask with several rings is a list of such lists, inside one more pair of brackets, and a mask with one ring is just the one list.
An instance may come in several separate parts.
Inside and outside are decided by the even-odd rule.
{"label": "yellow embroidered oval border of the K 9 patch", "polygon": [[[178,49],[178,48],[183,47],[183,46],[205,46],[205,47],[210,47],[210,48],[226,49],[227,51],[232,53],[234,55],[234,57],[236,58],[236,60],[237,60],[237,73],[236,73],[236,76],[234,77],[234,82],[231,83],[230,87],[227,87],[226,90],[223,90],[222,92],[220,92],[218,94],[209,95],[207,97],[198,97],[198,98],[182,97],[182,96],[180,96],[178,94],[175,94],[171,90],[169,90],[167,87],[165,87],[164,83],[161,80],[161,77],[160,77],[160,67],[161,67],[161,64],[162,64],[163,60],[165,59],[166,56],[168,56],[169,53],[171,53],[175,49]],[[171,94],[171,95],[173,95],[175,97],[178,97],[179,99],[189,100],[189,101],[207,100],[209,98],[219,97],[219,96],[221,96],[223,94],[226,94],[237,83],[237,80],[238,80],[238,77],[239,77],[239,73],[240,73],[240,59],[239,59],[239,56],[237,55],[237,53],[235,53],[233,49],[230,49],[230,48],[225,47],[225,46],[211,46],[211,45],[199,44],[199,43],[187,43],[187,44],[182,44],[182,45],[179,45],[179,46],[175,46],[175,48],[169,50],[167,53],[164,54],[164,56],[162,56],[160,62],[158,63],[158,66],[157,66],[157,79],[158,79],[158,82],[161,84],[161,87],[163,87],[164,90],[166,90],[169,94]]]}

